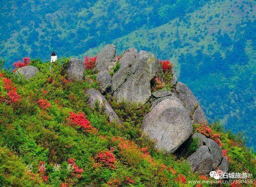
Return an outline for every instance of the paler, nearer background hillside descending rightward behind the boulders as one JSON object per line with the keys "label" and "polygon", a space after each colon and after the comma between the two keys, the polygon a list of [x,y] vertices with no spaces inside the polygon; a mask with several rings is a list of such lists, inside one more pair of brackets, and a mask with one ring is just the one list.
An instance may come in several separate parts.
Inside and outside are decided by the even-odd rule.
{"label": "paler, nearer background hillside descending rightward behind the boulders", "polygon": [[243,130],[247,145],[255,146],[255,12],[255,1],[212,0],[182,18],[111,42],[120,50],[136,47],[171,59],[206,116],[222,120],[234,133]]}

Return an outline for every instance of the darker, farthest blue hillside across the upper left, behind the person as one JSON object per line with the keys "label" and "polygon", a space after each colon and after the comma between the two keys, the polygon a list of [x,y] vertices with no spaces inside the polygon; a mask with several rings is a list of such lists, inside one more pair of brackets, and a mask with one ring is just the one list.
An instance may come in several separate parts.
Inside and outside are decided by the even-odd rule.
{"label": "darker, farthest blue hillside across the upper left, behind the person", "polygon": [[142,26],[160,26],[207,0],[1,0],[0,57],[80,55]]}

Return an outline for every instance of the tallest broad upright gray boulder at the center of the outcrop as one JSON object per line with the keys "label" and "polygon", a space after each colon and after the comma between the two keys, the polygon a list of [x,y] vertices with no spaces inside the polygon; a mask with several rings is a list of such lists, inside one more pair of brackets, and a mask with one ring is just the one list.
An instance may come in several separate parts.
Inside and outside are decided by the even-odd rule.
{"label": "tallest broad upright gray boulder at the center of the outcrop", "polygon": [[114,93],[118,101],[124,99],[144,105],[151,96],[150,81],[155,77],[160,64],[146,51],[140,51],[130,68],[130,77]]}

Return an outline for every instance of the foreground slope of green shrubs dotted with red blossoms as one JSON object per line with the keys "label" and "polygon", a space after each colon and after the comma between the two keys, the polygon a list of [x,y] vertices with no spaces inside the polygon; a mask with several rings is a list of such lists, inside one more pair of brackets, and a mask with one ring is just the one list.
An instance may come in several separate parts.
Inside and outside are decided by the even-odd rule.
{"label": "foreground slope of green shrubs dotted with red blossoms", "polygon": [[[62,68],[67,61],[60,59],[52,74],[49,63],[32,61],[40,72],[30,80],[1,70],[0,185],[196,186],[190,182],[214,180],[192,173],[186,156],[154,149],[140,131],[149,106],[108,97],[124,124],[108,122],[99,107],[88,108],[84,89],[98,89],[96,75],[88,70],[85,81],[70,82]],[[220,137],[230,171],[251,173],[254,180],[255,153],[219,124],[211,128],[194,124],[195,132]],[[190,154],[196,144],[190,143]]]}

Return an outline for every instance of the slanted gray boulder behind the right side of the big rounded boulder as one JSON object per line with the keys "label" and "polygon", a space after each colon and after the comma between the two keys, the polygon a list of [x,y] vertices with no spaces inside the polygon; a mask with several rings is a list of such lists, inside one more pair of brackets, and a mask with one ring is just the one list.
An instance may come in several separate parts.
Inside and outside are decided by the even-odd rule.
{"label": "slanted gray boulder behind the right side of the big rounded boulder", "polygon": [[191,120],[195,123],[207,122],[204,111],[200,107],[196,97],[187,85],[177,82],[175,87],[176,96],[182,101],[185,108],[191,114]]}

